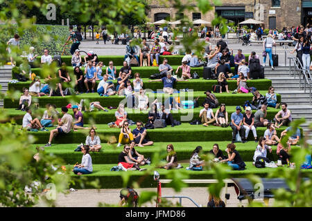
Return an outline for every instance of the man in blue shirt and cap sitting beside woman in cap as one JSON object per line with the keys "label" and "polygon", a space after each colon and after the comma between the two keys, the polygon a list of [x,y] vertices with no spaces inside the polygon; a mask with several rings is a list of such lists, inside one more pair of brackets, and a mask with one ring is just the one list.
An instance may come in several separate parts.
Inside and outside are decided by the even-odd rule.
{"label": "man in blue shirt and cap sitting beside woman in cap", "polygon": [[241,107],[236,106],[236,112],[231,115],[231,127],[233,130],[232,143],[235,142],[236,134],[239,132],[241,135],[241,142],[247,142],[247,137],[245,138],[245,128],[243,127],[243,114],[241,113]]}

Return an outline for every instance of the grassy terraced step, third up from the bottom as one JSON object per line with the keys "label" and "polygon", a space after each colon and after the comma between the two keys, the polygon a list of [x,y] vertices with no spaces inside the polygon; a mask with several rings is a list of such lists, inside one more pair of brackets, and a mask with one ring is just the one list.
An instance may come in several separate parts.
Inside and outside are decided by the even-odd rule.
{"label": "grassy terraced step, third up from the bottom", "polygon": [[[89,125],[85,125],[89,126]],[[119,137],[120,128],[109,128],[107,124],[96,125],[97,133],[107,137],[115,136]],[[130,126],[133,130],[136,126]],[[21,128],[17,125],[17,128]],[[281,131],[284,131],[286,127],[277,129],[277,135],[280,135]],[[266,131],[266,127],[257,128],[257,133],[263,135]],[[53,144],[79,144],[85,142],[87,130],[79,130],[76,132],[71,131],[67,135],[60,135],[53,140]],[[33,135],[36,138],[35,144],[46,144],[49,140],[49,131],[28,132],[29,135]],[[222,128],[219,126],[202,126],[181,124],[180,126],[167,126],[166,128],[155,128],[148,130],[148,137],[153,142],[205,142],[205,141],[226,141],[232,139],[232,128]],[[248,140],[253,140],[250,133]]]}

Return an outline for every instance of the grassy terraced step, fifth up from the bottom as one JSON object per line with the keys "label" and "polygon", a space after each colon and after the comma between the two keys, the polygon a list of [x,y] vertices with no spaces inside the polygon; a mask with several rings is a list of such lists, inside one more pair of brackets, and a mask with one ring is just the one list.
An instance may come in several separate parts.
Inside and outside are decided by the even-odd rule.
{"label": "grassy terraced step, fifth up from the bottom", "polygon": [[[211,88],[207,88],[211,89]],[[267,90],[259,90],[262,95],[266,95]],[[157,98],[158,102],[162,102],[162,97],[168,97],[167,94],[164,93],[147,93],[149,99]],[[174,93],[174,96],[182,97],[181,100],[193,100],[196,97],[200,97],[198,99],[199,104],[202,104],[205,101],[206,95],[204,91],[195,91],[193,93]],[[219,104],[226,104],[227,106],[236,106],[243,105],[245,101],[252,100],[252,93],[215,93],[216,98],[218,99]],[[102,106],[119,106],[119,103],[123,101],[124,103],[127,101],[125,96],[113,95],[110,97],[100,97],[98,93],[84,93],[81,95],[70,95],[66,97],[55,96],[55,97],[35,97],[37,99],[37,103],[39,103],[40,107],[46,106],[46,104],[55,104],[56,106],[67,106],[67,104],[71,103],[71,101],[80,102],[80,99],[89,99],[89,102],[101,102]],[[277,101],[281,101],[281,95],[277,94]],[[35,101],[34,101],[35,102]],[[162,102],[164,103],[164,101]],[[17,108],[19,106],[19,97],[17,99],[12,100],[10,97],[5,97],[3,99],[3,107],[4,108]]]}

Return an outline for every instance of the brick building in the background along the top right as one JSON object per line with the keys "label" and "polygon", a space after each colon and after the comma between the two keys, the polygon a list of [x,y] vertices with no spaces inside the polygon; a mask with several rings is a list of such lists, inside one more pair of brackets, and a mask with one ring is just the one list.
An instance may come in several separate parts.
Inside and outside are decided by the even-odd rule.
{"label": "brick building in the background along the top right", "polygon": [[[312,23],[312,1],[311,0],[220,0],[222,6],[214,6],[213,10],[205,15],[200,13],[196,7],[196,1],[189,4],[192,10],[184,12],[184,17],[189,19],[204,19],[211,21],[214,14],[234,23],[245,19],[257,19],[263,21],[265,28],[277,28],[297,26],[298,24]],[[159,21],[169,17],[171,21],[177,18],[177,10],[168,1],[167,5],[158,0],[148,0],[150,10],[148,17],[151,22]],[[164,2],[164,1],[162,1]]]}

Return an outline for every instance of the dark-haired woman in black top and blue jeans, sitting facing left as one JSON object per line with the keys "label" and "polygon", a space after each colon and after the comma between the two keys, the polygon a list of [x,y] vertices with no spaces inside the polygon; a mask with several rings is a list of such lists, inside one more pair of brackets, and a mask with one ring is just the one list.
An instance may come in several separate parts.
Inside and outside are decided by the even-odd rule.
{"label": "dark-haired woman in black top and blue jeans, sitting facing left", "polygon": [[227,159],[222,160],[222,162],[227,162],[227,165],[231,166],[232,169],[236,171],[242,171],[245,169],[245,162],[241,159],[239,151],[236,151],[235,144],[227,144],[225,151],[227,152]]}

